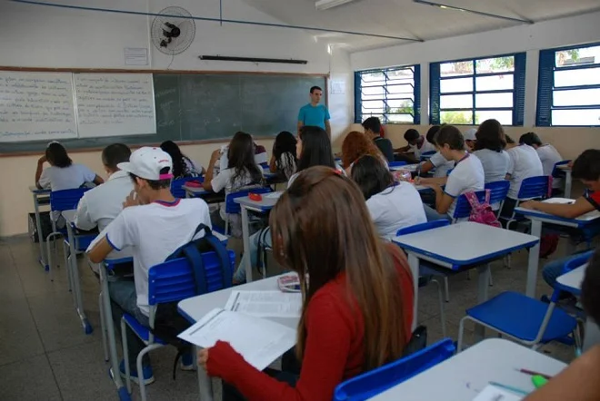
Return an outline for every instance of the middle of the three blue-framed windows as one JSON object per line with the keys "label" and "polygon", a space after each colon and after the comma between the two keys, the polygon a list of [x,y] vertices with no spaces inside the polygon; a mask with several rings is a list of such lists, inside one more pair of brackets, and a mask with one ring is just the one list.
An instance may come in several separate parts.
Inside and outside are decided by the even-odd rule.
{"label": "middle of the three blue-framed windows", "polygon": [[494,118],[523,125],[525,53],[432,63],[432,124],[476,125]]}

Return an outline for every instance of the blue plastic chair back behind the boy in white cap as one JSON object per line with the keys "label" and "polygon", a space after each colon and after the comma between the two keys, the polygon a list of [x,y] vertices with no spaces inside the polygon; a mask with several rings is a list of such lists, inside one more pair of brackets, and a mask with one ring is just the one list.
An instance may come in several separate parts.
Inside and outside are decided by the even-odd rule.
{"label": "blue plastic chair back behind the boy in white cap", "polygon": [[[235,252],[228,250],[230,263],[221,266],[216,252],[205,252],[202,261],[205,267],[207,292],[231,287],[235,268]],[[148,271],[148,304],[157,305],[195,297],[194,272],[187,259],[173,259],[153,266]]]}

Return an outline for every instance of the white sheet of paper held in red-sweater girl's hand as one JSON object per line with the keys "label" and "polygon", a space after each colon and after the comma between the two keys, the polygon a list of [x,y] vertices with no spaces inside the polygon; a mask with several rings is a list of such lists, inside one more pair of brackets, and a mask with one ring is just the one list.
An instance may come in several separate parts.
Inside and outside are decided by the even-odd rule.
{"label": "white sheet of paper held in red-sweater girl's hand", "polygon": [[226,341],[246,362],[263,370],[295,346],[296,333],[271,320],[216,308],[178,337],[198,347],[213,347],[217,340]]}

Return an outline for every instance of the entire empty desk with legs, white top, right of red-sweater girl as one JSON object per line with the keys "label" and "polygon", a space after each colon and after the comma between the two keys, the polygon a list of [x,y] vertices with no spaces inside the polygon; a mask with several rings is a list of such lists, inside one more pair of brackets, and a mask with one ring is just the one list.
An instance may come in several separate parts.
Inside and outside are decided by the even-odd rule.
{"label": "entire empty desk with legs, white top, right of red-sweater girl", "polygon": [[[465,221],[439,229],[425,230],[396,237],[393,241],[408,253],[408,264],[415,286],[415,322],[417,319],[419,259],[442,269],[479,269],[478,302],[487,300],[489,263],[519,249],[530,251],[528,277],[537,273],[538,238],[521,232],[498,229]],[[534,254],[535,258],[531,257]],[[534,285],[535,288],[535,285]]]}

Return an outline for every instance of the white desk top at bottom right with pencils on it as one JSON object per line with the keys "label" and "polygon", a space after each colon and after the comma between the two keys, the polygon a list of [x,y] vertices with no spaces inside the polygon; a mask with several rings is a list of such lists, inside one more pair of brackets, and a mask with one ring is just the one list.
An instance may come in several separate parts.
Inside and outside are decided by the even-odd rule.
{"label": "white desk top at bottom right with pencils on it", "polygon": [[471,401],[490,381],[534,391],[531,376],[517,369],[555,376],[565,366],[563,362],[511,341],[490,338],[371,400]]}

